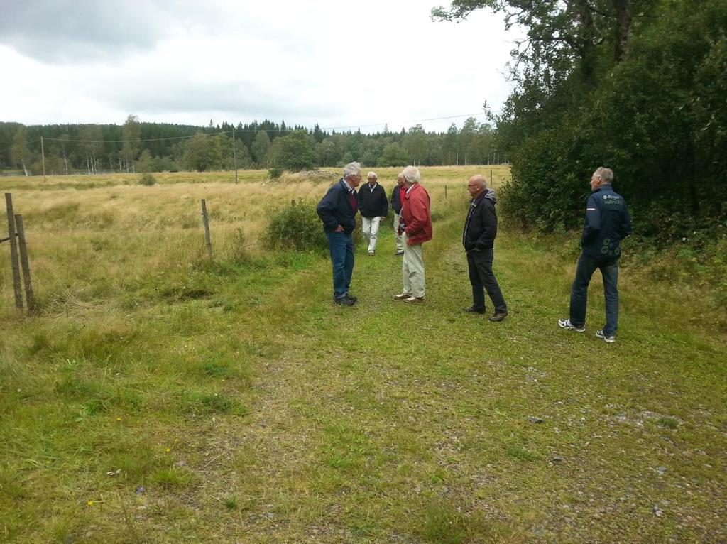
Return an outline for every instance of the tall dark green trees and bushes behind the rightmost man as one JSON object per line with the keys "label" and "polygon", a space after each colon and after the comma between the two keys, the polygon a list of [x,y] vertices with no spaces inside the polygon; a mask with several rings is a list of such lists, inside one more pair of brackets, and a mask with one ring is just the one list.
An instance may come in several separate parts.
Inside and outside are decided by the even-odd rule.
{"label": "tall dark green trees and bushes behind the rightmost man", "polygon": [[491,116],[512,165],[510,217],[579,225],[590,175],[606,166],[636,231],[724,236],[727,0],[454,0],[433,18],[475,9],[526,31],[515,89]]}

